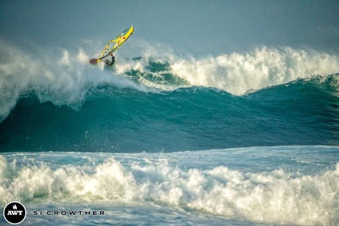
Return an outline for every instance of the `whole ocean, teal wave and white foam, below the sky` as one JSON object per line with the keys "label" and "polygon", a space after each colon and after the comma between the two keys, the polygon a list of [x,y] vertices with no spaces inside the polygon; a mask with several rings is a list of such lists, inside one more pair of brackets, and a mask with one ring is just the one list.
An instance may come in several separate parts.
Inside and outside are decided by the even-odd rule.
{"label": "whole ocean, teal wave and white foam, below the sky", "polygon": [[1,48],[0,205],[30,205],[24,224],[339,224],[336,55]]}

